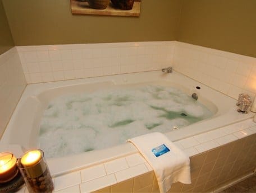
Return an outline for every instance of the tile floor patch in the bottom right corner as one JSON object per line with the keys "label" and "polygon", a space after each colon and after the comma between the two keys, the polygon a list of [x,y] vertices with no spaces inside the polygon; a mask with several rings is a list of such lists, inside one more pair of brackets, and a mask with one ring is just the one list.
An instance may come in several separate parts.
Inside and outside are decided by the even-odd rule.
{"label": "tile floor patch in the bottom right corner", "polygon": [[236,183],[236,185],[228,187],[226,190],[221,191],[220,193],[227,192],[256,192],[256,174],[253,176]]}

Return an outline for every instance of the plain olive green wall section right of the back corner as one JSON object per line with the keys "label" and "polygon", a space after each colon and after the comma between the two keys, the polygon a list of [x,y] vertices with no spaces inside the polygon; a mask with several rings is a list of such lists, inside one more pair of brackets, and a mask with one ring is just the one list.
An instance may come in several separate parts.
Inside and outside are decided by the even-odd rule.
{"label": "plain olive green wall section right of the back corner", "polygon": [[184,0],[177,40],[256,57],[256,1]]}

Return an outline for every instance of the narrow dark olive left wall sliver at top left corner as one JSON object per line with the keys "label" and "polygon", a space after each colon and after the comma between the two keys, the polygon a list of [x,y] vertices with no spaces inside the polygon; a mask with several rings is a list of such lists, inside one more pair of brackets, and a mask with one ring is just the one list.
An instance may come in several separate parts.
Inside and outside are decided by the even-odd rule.
{"label": "narrow dark olive left wall sliver at top left corner", "polygon": [[10,28],[8,26],[6,13],[0,0],[0,55],[14,46]]}

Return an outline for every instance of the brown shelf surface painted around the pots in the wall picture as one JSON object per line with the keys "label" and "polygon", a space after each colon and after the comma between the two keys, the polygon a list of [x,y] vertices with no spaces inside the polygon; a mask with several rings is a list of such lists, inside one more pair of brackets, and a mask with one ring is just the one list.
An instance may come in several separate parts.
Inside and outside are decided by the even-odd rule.
{"label": "brown shelf surface painted around the pots in the wall picture", "polygon": [[108,15],[108,16],[140,16],[140,0],[135,0],[131,10],[120,10],[110,2],[106,9],[96,10],[90,8],[87,1],[70,0],[72,14]]}

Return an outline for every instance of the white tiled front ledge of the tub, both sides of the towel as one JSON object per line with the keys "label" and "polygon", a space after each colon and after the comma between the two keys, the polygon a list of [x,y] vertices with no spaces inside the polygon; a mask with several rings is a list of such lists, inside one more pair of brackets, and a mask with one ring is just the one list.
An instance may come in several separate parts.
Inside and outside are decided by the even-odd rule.
{"label": "white tiled front ledge of the tub, both sides of the towel", "polygon": [[[255,133],[256,123],[252,119],[248,119],[240,123],[179,140],[175,144],[191,157]],[[201,139],[203,138],[204,140],[202,141]],[[109,168],[111,168],[110,171]],[[113,170],[113,168],[116,169]],[[139,183],[137,181],[140,181],[140,177],[138,176],[147,176],[153,184],[153,181],[156,179],[154,179],[152,172],[152,167],[149,166],[141,154],[135,153],[55,177],[54,192],[92,192],[131,179],[134,181],[133,191],[143,192],[139,191],[140,189],[136,190],[136,184]],[[143,176],[144,180],[145,176]],[[145,186],[143,186],[144,188]],[[153,187],[150,186],[147,192],[152,192],[152,189]],[[27,192],[27,190],[24,187],[19,192]]]}

